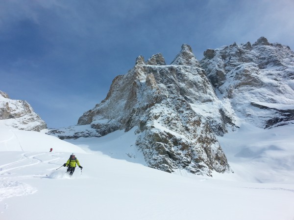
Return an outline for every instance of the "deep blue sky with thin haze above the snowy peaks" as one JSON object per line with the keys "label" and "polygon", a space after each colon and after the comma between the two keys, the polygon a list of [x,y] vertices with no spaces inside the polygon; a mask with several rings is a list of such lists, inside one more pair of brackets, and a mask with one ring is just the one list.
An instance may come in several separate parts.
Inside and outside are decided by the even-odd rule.
{"label": "deep blue sky with thin haze above the snowy peaks", "polygon": [[190,44],[294,48],[293,0],[0,0],[0,90],[26,100],[49,128],[74,125],[112,80]]}

